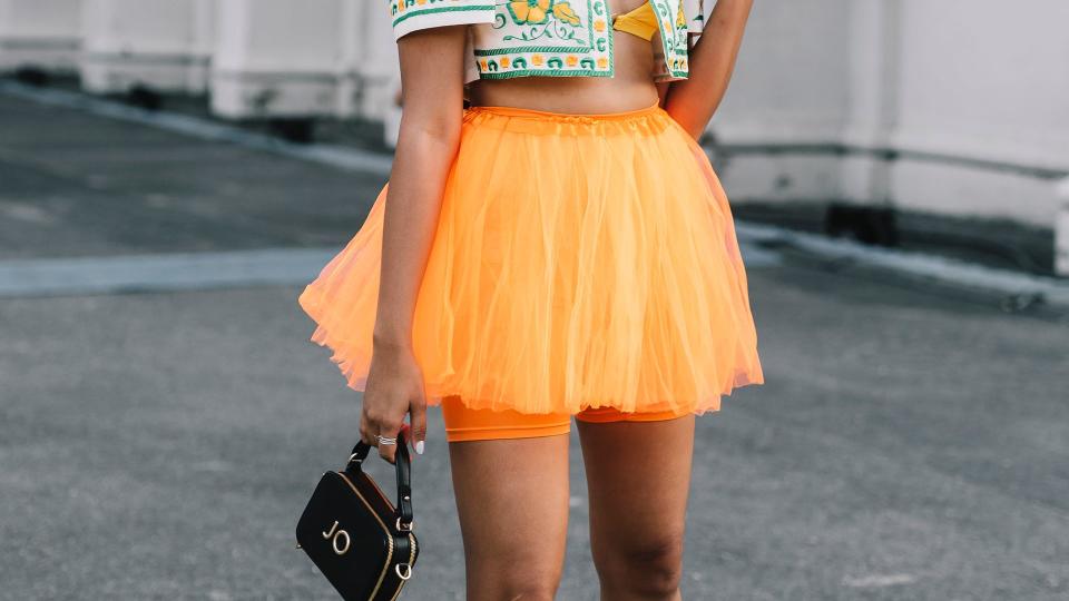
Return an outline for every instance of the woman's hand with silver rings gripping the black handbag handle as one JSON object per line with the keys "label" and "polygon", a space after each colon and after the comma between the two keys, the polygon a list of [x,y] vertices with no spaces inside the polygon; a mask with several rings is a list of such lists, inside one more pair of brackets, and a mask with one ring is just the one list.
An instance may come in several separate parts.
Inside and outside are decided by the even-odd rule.
{"label": "woman's hand with silver rings gripping the black handbag handle", "polygon": [[360,437],[379,449],[382,459],[394,462],[396,445],[380,445],[377,436],[396,439],[404,424],[404,415],[411,424],[405,441],[418,454],[423,454],[426,436],[426,395],[423,372],[412,354],[402,345],[375,345],[367,383],[364,386],[363,406],[360,413]]}

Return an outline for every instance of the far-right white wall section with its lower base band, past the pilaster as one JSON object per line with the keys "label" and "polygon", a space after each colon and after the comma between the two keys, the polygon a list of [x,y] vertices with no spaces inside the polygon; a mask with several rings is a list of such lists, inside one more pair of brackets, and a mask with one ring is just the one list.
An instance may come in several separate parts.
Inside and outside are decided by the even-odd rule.
{"label": "far-right white wall section with its lower base band, past the pilaster", "polygon": [[[1069,2],[904,3],[896,147],[1069,171]],[[1052,227],[1049,181],[905,160],[901,206]]]}

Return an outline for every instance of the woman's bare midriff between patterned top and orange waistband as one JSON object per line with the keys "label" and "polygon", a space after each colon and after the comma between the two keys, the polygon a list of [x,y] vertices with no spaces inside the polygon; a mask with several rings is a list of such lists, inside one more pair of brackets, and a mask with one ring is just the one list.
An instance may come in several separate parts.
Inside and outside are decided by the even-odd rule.
{"label": "woman's bare midriff between patterned top and orange waistband", "polygon": [[[611,13],[624,13],[644,0],[609,2]],[[518,77],[482,79],[468,87],[475,106],[519,107],[569,114],[625,112],[658,101],[654,83],[651,43],[622,31],[612,31],[614,77]]]}

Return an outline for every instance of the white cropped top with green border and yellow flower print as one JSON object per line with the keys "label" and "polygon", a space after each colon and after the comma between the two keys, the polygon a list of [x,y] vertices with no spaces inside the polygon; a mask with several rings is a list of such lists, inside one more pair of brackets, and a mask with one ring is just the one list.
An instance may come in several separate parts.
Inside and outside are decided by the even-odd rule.
{"label": "white cropped top with green border and yellow flower print", "polygon": [[[530,76],[612,77],[615,72],[608,0],[388,2],[394,39],[432,27],[471,26],[464,83]],[[687,53],[702,32],[703,0],[648,0],[648,4],[657,28],[651,43],[654,80],[686,79]]]}

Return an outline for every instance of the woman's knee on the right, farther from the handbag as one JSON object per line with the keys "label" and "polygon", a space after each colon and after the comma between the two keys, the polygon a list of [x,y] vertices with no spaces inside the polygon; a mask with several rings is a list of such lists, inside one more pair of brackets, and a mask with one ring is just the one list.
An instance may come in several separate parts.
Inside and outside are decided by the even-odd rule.
{"label": "woman's knee on the right, farther from the handbag", "polygon": [[596,561],[601,585],[648,599],[671,598],[683,577],[683,533],[612,545]]}

